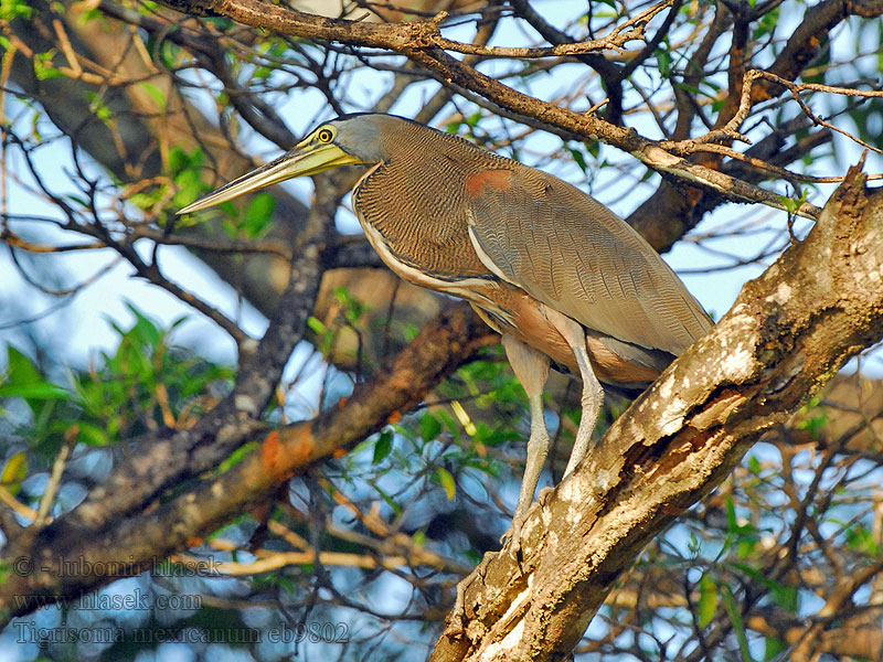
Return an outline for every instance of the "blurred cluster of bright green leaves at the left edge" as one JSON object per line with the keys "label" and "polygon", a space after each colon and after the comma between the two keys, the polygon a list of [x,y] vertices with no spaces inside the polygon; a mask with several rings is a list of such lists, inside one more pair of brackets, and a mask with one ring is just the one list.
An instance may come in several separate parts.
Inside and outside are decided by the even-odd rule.
{"label": "blurred cluster of bright green leaves at the left edge", "polygon": [[26,405],[15,434],[44,461],[65,440],[115,446],[163,426],[187,428],[228,388],[230,367],[171,344],[187,318],[162,329],[134,305],[128,309],[135,318],[129,329],[109,322],[119,339],[116,351],[102,356],[100,367],[70,372],[66,387],[8,345],[0,403]]}

